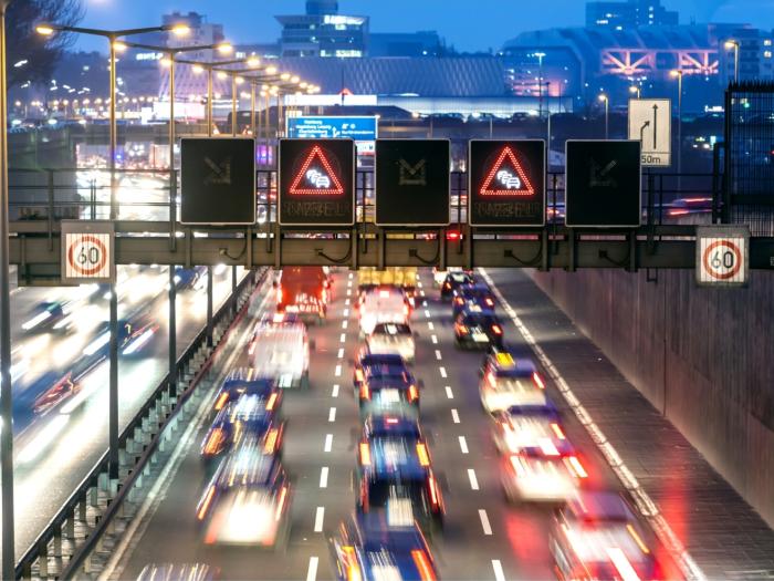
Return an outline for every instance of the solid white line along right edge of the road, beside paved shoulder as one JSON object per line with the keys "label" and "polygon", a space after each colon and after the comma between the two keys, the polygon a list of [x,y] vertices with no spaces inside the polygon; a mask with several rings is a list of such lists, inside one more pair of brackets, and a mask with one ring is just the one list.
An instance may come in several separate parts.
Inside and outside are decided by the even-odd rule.
{"label": "solid white line along right edge of the road, beside paved shoulder", "polygon": [[596,444],[597,448],[599,448],[603,456],[605,456],[607,464],[610,466],[618,479],[623,483],[624,487],[629,491],[629,494],[631,494],[640,513],[646,519],[648,519],[648,522],[656,531],[656,535],[659,537],[661,542],[666,546],[667,550],[678,562],[678,566],[682,570],[682,573],[686,575],[687,579],[707,579],[702,570],[691,557],[691,554],[686,550],[686,546],[682,543],[682,541],[680,541],[672,528],[669,526],[669,522],[667,522],[667,519],[660,512],[656,502],[653,502],[653,500],[650,498],[650,495],[648,495],[648,492],[642,488],[635,475],[631,474],[631,470],[629,470],[628,466],[624,464],[624,460],[618,455],[618,452],[615,449],[613,444],[608,442],[607,436],[605,436],[602,429],[599,429],[599,426],[596,425],[596,423],[588,414],[586,408],[583,406],[583,404],[580,404],[580,401],[575,396],[575,393],[573,393],[573,390],[569,387],[567,381],[564,378],[556,365],[554,365],[554,362],[551,360],[551,357],[548,357],[548,354],[545,351],[543,351],[543,347],[541,345],[537,344],[537,341],[532,335],[532,332],[526,328],[521,318],[516,314],[516,311],[513,309],[513,307],[511,307],[511,304],[505,300],[505,297],[494,284],[494,281],[489,276],[487,270],[481,268],[479,269],[479,271],[481,272],[482,278],[487,281],[487,283],[494,292],[494,295],[500,301],[500,304],[503,305],[503,310],[511,318],[511,321],[515,325],[516,330],[522,334],[524,341],[526,341],[526,343],[532,349],[533,353],[543,364],[543,367],[545,367],[548,376],[556,384],[556,388],[562,393],[562,396],[567,402],[569,407],[572,407],[580,424],[592,436],[592,439]]}

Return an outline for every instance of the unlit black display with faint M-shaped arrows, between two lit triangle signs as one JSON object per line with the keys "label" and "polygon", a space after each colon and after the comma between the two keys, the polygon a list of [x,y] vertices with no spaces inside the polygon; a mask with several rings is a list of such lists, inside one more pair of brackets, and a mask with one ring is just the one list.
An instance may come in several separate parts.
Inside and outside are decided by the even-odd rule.
{"label": "unlit black display with faint M-shaped arrows, between two lit triangle signs", "polygon": [[450,154],[449,139],[377,139],[377,226],[449,226]]}

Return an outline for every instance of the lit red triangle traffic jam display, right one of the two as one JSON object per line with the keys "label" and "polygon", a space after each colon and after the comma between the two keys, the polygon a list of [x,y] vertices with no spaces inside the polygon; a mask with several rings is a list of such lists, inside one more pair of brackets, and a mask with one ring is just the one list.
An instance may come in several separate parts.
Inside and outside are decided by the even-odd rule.
{"label": "lit red triangle traffic jam display, right one of the two", "polygon": [[545,142],[472,139],[469,148],[471,226],[545,224]]}

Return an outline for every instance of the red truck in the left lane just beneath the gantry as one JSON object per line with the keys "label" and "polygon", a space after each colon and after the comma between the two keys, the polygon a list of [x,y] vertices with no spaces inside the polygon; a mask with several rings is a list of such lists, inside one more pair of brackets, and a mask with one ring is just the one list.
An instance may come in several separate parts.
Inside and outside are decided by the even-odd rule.
{"label": "red truck in the left lane just beneath the gantry", "polygon": [[297,313],[304,322],[322,323],[331,300],[331,280],[324,267],[289,267],[275,283],[276,311]]}

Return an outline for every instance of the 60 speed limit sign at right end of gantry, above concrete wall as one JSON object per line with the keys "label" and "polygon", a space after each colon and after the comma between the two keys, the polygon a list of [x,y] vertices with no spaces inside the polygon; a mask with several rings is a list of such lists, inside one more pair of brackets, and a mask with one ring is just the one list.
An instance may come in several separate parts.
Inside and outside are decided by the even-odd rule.
{"label": "60 speed limit sign at right end of gantry, above concrete wall", "polygon": [[747,282],[750,229],[745,226],[697,228],[697,282],[704,287],[743,287]]}

